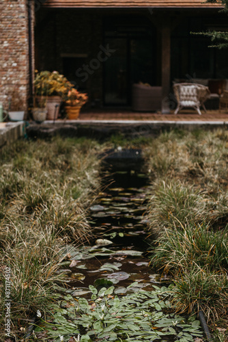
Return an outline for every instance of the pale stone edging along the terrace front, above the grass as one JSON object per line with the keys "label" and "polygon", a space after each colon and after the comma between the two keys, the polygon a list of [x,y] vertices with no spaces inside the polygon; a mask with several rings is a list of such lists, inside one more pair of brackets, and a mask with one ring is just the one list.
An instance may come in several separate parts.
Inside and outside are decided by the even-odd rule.
{"label": "pale stone edging along the terrace front, above the grass", "polygon": [[27,127],[28,137],[52,137],[62,135],[66,137],[110,137],[122,133],[126,137],[156,136],[162,131],[172,129],[227,129],[228,121],[133,121],[133,120],[58,120],[56,122],[35,122]]}

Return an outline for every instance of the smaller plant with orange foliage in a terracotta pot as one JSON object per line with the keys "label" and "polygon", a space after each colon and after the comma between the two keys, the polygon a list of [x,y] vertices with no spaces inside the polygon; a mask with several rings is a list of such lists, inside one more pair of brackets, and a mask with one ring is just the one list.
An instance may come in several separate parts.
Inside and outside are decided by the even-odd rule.
{"label": "smaller plant with orange foliage in a terracotta pot", "polygon": [[66,94],[64,100],[68,119],[76,120],[77,118],[79,118],[81,107],[87,102],[88,96],[87,94],[79,92],[78,90],[73,88],[73,84],[71,84],[71,88],[70,90],[68,90],[68,93]]}

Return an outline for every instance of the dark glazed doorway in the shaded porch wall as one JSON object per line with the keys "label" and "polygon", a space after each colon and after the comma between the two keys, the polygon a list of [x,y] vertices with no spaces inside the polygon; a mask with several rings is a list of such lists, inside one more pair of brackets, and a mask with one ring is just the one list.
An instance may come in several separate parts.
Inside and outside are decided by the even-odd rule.
{"label": "dark glazed doorway in the shaded porch wall", "polygon": [[133,83],[155,84],[154,28],[145,18],[119,18],[115,23],[106,19],[104,44],[115,52],[104,63],[103,103],[130,106]]}

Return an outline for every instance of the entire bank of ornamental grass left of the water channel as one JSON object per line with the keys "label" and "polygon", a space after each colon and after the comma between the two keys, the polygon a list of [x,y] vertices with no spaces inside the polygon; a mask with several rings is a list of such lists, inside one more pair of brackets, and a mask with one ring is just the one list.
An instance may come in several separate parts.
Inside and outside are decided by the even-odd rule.
{"label": "entire bank of ornamental grass left of the water channel", "polygon": [[[100,186],[98,147],[92,140],[56,137],[19,140],[0,151],[0,305],[4,312],[9,267],[16,342],[37,310],[48,312],[66,279],[57,273],[63,246],[91,235],[87,209]],[[4,316],[0,324],[4,334]]]}

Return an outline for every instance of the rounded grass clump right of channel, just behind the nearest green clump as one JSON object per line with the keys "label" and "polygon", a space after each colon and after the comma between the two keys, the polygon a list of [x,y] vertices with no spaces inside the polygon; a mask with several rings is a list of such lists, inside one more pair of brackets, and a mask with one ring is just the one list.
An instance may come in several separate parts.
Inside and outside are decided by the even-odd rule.
{"label": "rounded grass clump right of channel, just behind the nearest green clump", "polygon": [[199,222],[207,217],[207,196],[193,185],[179,180],[157,181],[152,187],[154,194],[149,198],[147,217],[152,233],[160,234],[163,228]]}

